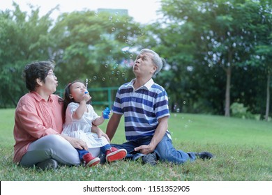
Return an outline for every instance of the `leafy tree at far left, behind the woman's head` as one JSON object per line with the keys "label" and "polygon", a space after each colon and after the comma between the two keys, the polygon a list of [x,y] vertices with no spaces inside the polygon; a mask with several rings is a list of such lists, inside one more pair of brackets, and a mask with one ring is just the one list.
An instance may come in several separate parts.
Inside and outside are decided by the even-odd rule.
{"label": "leafy tree at far left, behind the woman's head", "polygon": [[51,11],[39,17],[38,8],[27,15],[16,3],[13,6],[13,11],[0,12],[0,107],[16,106],[26,92],[21,77],[24,65],[49,59]]}

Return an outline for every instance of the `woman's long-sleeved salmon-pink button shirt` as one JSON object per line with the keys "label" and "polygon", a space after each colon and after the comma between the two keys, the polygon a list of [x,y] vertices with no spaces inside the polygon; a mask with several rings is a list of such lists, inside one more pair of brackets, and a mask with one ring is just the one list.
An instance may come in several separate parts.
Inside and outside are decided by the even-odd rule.
{"label": "woman's long-sleeved salmon-pink button shirt", "polygon": [[20,162],[29,144],[48,134],[60,134],[63,125],[63,104],[58,95],[46,102],[38,93],[29,92],[18,102],[15,110],[15,139],[13,162]]}

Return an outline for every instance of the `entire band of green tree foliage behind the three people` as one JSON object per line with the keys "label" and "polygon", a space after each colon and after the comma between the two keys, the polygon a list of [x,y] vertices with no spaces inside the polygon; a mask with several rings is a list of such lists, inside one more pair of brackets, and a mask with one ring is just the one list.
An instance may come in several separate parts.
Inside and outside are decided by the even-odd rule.
{"label": "entire band of green tree foliage behind the three people", "polygon": [[[15,107],[27,93],[21,74],[32,61],[56,62],[59,90],[86,78],[89,88],[116,87],[135,77],[133,61],[146,47],[167,61],[154,79],[166,88],[172,111],[222,115],[231,100],[268,118],[271,1],[163,0],[161,5],[163,17],[149,25],[91,10],[63,13],[54,22],[54,9],[41,17],[38,8],[24,13],[16,3],[15,10],[0,11],[0,107]],[[230,91],[224,91],[227,86]]]}

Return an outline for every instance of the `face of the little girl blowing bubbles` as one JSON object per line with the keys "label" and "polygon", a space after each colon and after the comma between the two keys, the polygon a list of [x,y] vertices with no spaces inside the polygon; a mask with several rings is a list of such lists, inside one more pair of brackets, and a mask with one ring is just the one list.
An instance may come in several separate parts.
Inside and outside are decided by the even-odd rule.
{"label": "face of the little girl blowing bubbles", "polygon": [[75,102],[81,102],[84,99],[85,92],[88,91],[81,82],[75,82],[70,86],[70,98],[73,98]]}

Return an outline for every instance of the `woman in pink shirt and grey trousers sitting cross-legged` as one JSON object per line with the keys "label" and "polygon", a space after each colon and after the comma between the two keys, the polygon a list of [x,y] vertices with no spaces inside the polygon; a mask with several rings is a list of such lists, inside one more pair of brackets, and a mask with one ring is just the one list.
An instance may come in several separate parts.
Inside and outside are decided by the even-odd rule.
{"label": "woman in pink shirt and grey trousers sitting cross-legged", "polygon": [[80,139],[61,134],[63,104],[54,95],[58,81],[54,63],[39,61],[26,65],[24,78],[29,93],[17,104],[14,126],[13,162],[21,166],[56,169],[58,164],[78,165],[75,148],[88,150]]}

